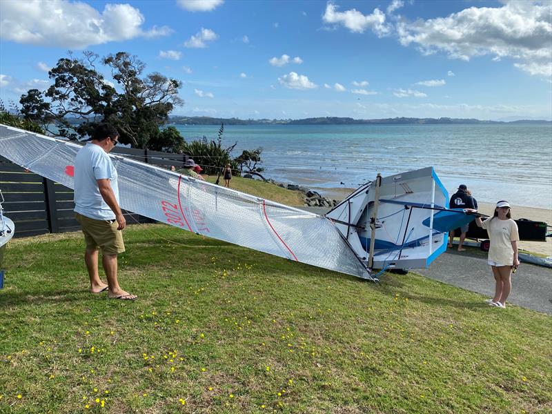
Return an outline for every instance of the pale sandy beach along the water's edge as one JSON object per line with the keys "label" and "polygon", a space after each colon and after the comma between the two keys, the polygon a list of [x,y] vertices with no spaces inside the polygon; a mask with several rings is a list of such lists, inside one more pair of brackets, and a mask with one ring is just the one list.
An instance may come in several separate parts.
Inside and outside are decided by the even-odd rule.
{"label": "pale sandy beach along the water's edge", "polygon": [[[342,200],[351,194],[354,188],[313,188],[324,197],[329,199]],[[479,211],[482,214],[493,215],[495,204],[478,202]],[[525,206],[512,206],[513,219],[529,219],[533,221],[544,221],[552,226],[552,210],[547,208],[535,208]],[[541,255],[552,256],[552,237],[547,237],[546,242],[520,242],[519,248],[529,252],[540,253]]]}

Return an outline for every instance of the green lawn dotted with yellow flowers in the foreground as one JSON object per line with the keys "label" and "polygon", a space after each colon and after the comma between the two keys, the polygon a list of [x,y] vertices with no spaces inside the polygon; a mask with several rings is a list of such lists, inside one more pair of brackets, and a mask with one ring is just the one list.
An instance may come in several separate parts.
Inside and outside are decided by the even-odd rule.
{"label": "green lawn dotted with yellow flowers in the foreground", "polygon": [[552,410],[548,315],[161,224],[129,226],[125,242],[119,280],[136,302],[88,293],[80,233],[10,242],[1,413]]}

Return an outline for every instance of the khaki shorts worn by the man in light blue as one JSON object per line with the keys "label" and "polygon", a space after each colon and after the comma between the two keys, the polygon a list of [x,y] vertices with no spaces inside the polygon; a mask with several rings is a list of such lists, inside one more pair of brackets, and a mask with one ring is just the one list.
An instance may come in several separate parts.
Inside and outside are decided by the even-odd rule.
{"label": "khaki shorts worn by the man in light blue", "polygon": [[90,217],[75,213],[84,233],[86,250],[98,250],[105,255],[117,255],[125,251],[123,233],[117,230],[117,220],[96,220]]}

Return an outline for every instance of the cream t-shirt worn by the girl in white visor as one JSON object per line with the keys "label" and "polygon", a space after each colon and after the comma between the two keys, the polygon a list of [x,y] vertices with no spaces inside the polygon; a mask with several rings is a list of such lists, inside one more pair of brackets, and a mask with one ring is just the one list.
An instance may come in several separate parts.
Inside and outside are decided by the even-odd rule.
{"label": "cream t-shirt worn by the girl in white visor", "polygon": [[483,221],[482,227],[487,230],[489,239],[491,239],[489,260],[506,266],[512,266],[512,242],[520,240],[515,221],[513,219],[501,220],[498,217],[494,217],[493,219]]}

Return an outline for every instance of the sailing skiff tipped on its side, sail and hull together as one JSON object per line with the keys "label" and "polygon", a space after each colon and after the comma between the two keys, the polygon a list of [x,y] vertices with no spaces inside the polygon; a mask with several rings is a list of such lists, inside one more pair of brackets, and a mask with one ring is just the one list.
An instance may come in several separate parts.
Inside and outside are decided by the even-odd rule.
{"label": "sailing skiff tipped on its side, sail and hull together", "polygon": [[[0,155],[69,188],[80,148],[0,124]],[[294,262],[373,280],[377,266],[425,267],[446,248],[447,233],[432,225],[439,212],[413,211],[414,204],[448,207],[448,195],[433,168],[379,179],[377,186],[367,184],[324,217],[117,154],[109,156],[119,175],[121,208]],[[401,210],[391,212],[390,206]],[[402,209],[409,211],[402,214]],[[394,214],[384,217],[388,210]],[[367,252],[373,230],[366,224],[374,213],[372,239],[377,243]],[[406,221],[404,216],[409,216]],[[428,225],[424,219],[429,219]],[[378,240],[394,246],[382,247]]]}

